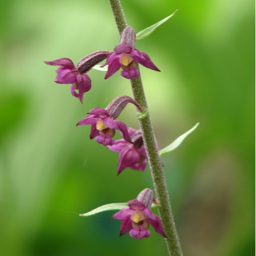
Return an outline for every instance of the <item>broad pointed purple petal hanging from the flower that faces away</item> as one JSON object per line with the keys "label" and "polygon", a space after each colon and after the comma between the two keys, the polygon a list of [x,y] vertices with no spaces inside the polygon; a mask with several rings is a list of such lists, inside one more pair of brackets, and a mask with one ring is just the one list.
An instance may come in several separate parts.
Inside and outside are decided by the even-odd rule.
{"label": "broad pointed purple petal hanging from the flower that faces away", "polygon": [[132,144],[130,148],[125,148],[120,152],[118,159],[117,173],[119,174],[130,165],[138,163],[140,160],[140,154],[133,148]]}

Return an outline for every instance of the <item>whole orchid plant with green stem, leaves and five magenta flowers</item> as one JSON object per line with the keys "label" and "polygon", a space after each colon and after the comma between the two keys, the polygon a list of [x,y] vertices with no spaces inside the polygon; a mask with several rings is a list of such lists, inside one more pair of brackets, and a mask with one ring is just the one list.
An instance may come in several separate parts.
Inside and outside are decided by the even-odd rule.
{"label": "whole orchid plant with green stem, leaves and five magenta flowers", "polygon": [[[95,107],[90,110],[88,116],[78,121],[77,125],[91,125],[89,138],[95,138],[97,143],[119,153],[117,174],[120,174],[126,168],[144,171],[149,161],[157,200],[154,198],[153,191],[150,188],[145,188],[134,200],[127,203],[103,205],[86,214],[81,214],[81,216],[89,216],[107,210],[120,210],[112,216],[113,219],[122,220],[120,235],[129,232],[132,238],[148,238],[150,236],[149,226],[151,225],[167,241],[170,255],[182,255],[160,156],[176,149],[186,136],[196,129],[198,124],[179,136],[172,144],[159,150],[151,127],[149,112],[146,108],[139,64],[155,71],[160,70],[151,61],[148,54],[135,48],[136,40],[150,35],[157,27],[172,17],[175,12],[136,35],[134,29],[126,25],[120,1],[110,0],[110,4],[118,31],[121,34],[119,44],[115,46],[113,52],[96,51],[82,58],[76,66],[68,58],[45,61],[45,63],[59,66],[56,70],[55,82],[71,84],[71,94],[78,98],[81,103],[83,102],[84,93],[88,92],[92,86],[91,79],[87,74],[92,68],[107,71],[105,79],[121,69],[121,76],[131,80],[134,98],[126,95],[118,96],[106,108]],[[106,63],[100,65],[99,63],[105,59]],[[127,127],[124,122],[117,120],[128,103],[132,103],[138,111],[136,116],[140,124],[139,130]],[[116,130],[120,132],[122,139],[115,140]],[[151,211],[151,207],[154,206],[158,206],[160,217]]]}

